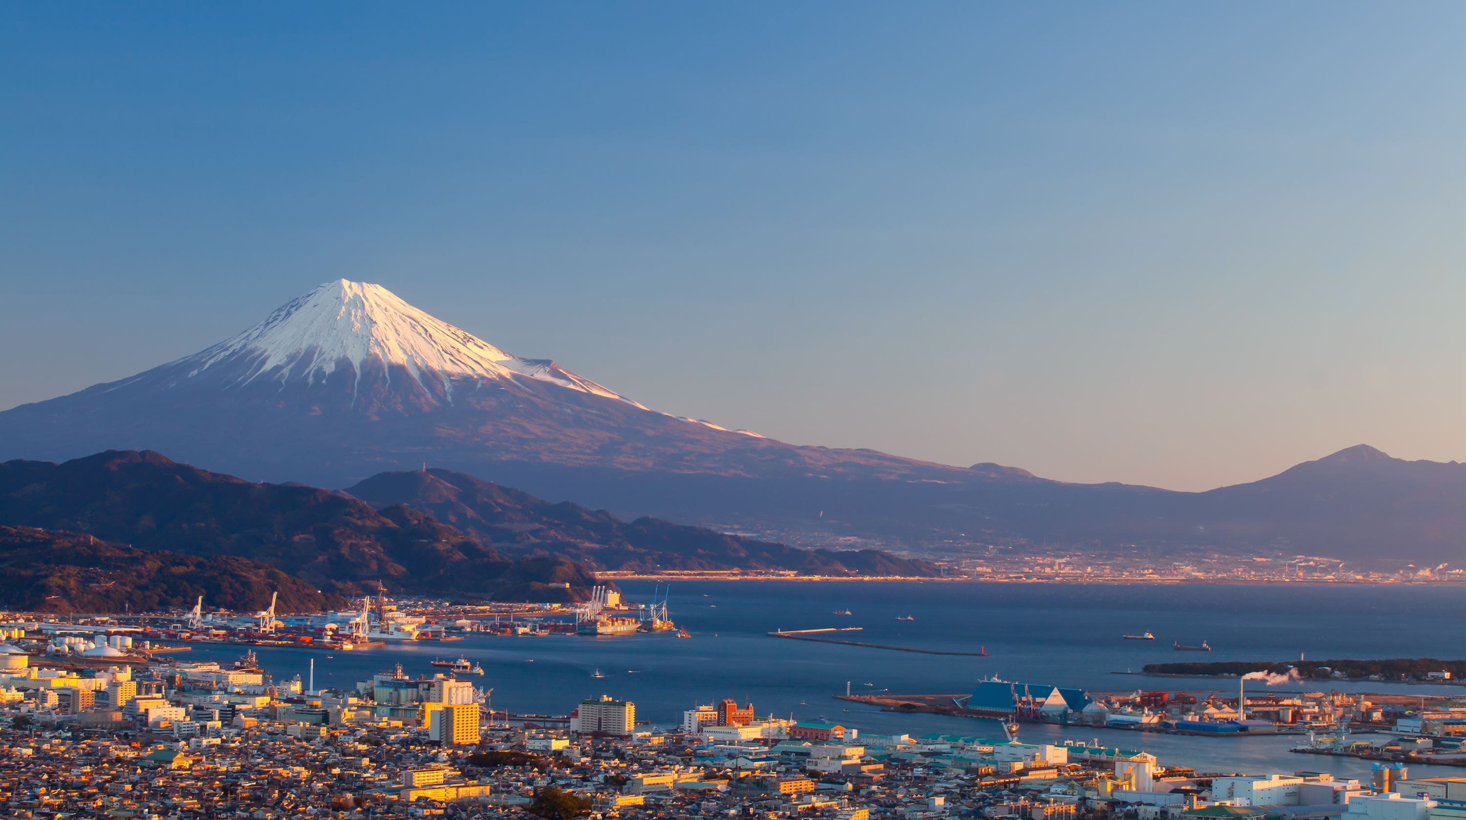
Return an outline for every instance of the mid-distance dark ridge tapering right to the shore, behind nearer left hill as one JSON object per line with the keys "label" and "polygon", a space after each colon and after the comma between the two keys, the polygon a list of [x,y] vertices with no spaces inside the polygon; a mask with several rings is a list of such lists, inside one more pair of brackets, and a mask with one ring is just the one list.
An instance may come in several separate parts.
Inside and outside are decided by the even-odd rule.
{"label": "mid-distance dark ridge tapering right to the shore, behind nearer left hill", "polygon": [[658,518],[551,504],[452,470],[380,473],[346,492],[372,507],[431,514],[507,555],[557,555],[595,570],[795,570],[812,575],[937,575],[934,565],[878,551],[796,549]]}

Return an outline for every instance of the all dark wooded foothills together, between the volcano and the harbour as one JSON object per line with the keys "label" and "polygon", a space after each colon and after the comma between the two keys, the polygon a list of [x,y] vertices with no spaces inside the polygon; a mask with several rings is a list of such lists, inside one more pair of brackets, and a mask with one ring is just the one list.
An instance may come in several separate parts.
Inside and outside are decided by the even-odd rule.
{"label": "all dark wooded foothills together, between the volcano and the harbour", "polygon": [[[811,552],[667,521],[627,524],[444,470],[384,473],[346,493],[245,482],[150,451],[0,464],[0,527],[12,529],[0,539],[0,562],[23,568],[13,583],[26,578],[13,590],[0,583],[0,594],[75,609],[196,594],[210,605],[261,608],[268,584],[279,584],[281,608],[292,609],[317,609],[378,583],[416,594],[581,600],[597,583],[592,568],[937,574],[931,564],[875,551]],[[150,556],[138,573],[119,574],[138,555]],[[98,578],[108,586],[86,587]]]}

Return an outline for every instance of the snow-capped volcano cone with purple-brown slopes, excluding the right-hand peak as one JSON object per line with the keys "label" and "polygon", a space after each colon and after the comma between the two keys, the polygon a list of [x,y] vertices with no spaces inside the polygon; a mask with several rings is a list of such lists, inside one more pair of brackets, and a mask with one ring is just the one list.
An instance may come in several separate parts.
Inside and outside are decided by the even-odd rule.
{"label": "snow-capped volcano cone with purple-brown slopes, excluding the right-hand peak", "polygon": [[381,286],[346,280],[192,356],[0,413],[0,442],[4,455],[29,458],[157,450],[327,486],[424,461],[493,463],[494,476],[561,466],[762,477],[846,463],[900,474],[921,464],[796,448],[648,410],[550,359],[506,353]]}

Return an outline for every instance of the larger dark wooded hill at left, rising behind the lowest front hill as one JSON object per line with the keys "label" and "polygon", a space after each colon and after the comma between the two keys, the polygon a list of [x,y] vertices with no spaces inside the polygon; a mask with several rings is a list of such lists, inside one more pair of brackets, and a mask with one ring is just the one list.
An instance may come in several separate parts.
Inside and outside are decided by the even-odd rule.
{"label": "larger dark wooded hill at left, rising behind the lowest front hill", "polygon": [[[157,452],[0,464],[0,526],[75,530],[147,551],[243,556],[337,593],[566,596],[594,583],[567,561],[509,561],[431,515],[324,489],[257,485]],[[544,584],[560,584],[560,590]]]}

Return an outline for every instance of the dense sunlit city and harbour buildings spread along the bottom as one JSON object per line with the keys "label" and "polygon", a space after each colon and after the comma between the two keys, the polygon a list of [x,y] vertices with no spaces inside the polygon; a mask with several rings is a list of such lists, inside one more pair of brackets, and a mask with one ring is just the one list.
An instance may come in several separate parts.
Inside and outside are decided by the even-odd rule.
{"label": "dense sunlit city and harbour buildings spread along the bottom", "polygon": [[[985,718],[973,720],[970,735],[871,734],[830,720],[759,716],[754,704],[733,698],[686,709],[680,722],[657,726],[639,719],[635,703],[597,691],[598,681],[563,693],[560,715],[517,715],[493,709],[488,684],[496,669],[463,659],[434,662],[435,669],[397,663],[342,690],[315,688],[314,660],[305,679],[277,679],[248,649],[320,643],[331,652],[371,652],[384,643],[453,641],[475,633],[515,640],[509,636],[548,621],[506,628],[513,608],[400,603],[365,602],[361,612],[342,612],[339,624],[330,616],[202,606],[128,616],[9,616],[0,625],[4,814],[1466,817],[1466,772],[1410,775],[1412,764],[1466,764],[1466,698],[1246,691],[1246,679],[1236,698],[1091,694],[985,679],[956,704],[956,713]],[[517,612],[523,618],[526,609]],[[666,615],[658,605],[625,603],[614,593],[560,614],[576,627],[570,633],[585,636],[598,634],[607,621],[658,630]],[[349,643],[352,630],[365,649]],[[399,636],[387,637],[391,631]],[[600,634],[547,640],[626,640]],[[207,643],[237,644],[243,656],[235,663],[186,660],[191,644]],[[1253,676],[1255,688],[1275,682]],[[1435,671],[1425,678],[1448,682],[1453,675]],[[922,707],[918,696],[849,697],[897,710]],[[994,720],[1001,737],[984,737]],[[1133,748],[1023,742],[1029,723],[1139,732]],[[1143,732],[1293,734],[1297,751],[1368,760],[1372,775],[1309,772],[1303,757],[1287,772],[1196,770],[1186,760],[1143,751]]]}

